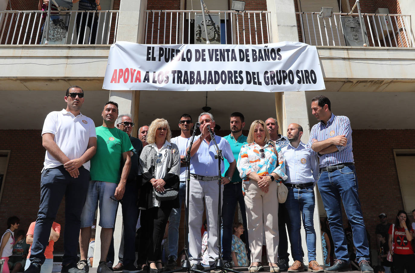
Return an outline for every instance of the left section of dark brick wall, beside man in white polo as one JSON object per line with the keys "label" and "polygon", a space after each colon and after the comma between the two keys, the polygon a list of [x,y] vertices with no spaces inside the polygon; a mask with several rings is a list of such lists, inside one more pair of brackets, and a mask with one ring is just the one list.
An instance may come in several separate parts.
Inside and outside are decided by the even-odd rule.
{"label": "left section of dark brick wall, beside man in white polo", "polygon": [[[7,218],[20,218],[20,229],[27,232],[31,222],[36,221],[39,210],[40,175],[45,149],[40,130],[0,130],[0,150],[11,150],[6,179],[0,202],[0,222],[6,226]],[[62,225],[63,234],[65,205],[62,202],[56,222]],[[55,243],[55,253],[63,252],[63,236]]]}

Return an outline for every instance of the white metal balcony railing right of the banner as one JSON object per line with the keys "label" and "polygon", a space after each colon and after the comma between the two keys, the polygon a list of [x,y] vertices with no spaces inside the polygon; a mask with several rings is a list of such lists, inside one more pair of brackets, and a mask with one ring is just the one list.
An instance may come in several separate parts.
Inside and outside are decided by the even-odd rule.
{"label": "white metal balcony railing right of the banner", "polygon": [[[319,12],[296,12],[300,25],[300,41],[315,46],[345,46],[340,17],[358,18],[357,13],[333,13],[332,18],[319,18]],[[410,15],[364,13],[367,46],[414,47]]]}

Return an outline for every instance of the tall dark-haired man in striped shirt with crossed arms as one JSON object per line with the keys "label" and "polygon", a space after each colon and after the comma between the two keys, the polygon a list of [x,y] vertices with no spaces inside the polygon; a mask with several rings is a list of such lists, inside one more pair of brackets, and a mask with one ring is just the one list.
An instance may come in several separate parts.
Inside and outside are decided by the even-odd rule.
{"label": "tall dark-haired man in striped shirt with crossed arms", "polygon": [[320,122],[312,127],[308,145],[320,158],[318,189],[327,212],[337,258],[334,265],[326,268],[325,272],[339,272],[349,268],[340,205],[342,201],[352,225],[356,260],[361,272],[373,273],[373,268],[369,266],[369,244],[357,192],[359,185],[354,168],[350,120],[346,116],[332,114],[330,100],[323,95],[312,98],[311,110]]}

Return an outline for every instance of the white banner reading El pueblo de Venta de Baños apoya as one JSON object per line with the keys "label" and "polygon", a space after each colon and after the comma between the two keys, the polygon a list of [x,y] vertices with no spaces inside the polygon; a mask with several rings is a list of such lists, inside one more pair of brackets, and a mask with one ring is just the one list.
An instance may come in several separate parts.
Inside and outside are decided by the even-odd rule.
{"label": "white banner reading El pueblo de Venta de Ba\u00f1os apoya", "polygon": [[325,89],[315,46],[117,42],[103,89],[287,92]]}

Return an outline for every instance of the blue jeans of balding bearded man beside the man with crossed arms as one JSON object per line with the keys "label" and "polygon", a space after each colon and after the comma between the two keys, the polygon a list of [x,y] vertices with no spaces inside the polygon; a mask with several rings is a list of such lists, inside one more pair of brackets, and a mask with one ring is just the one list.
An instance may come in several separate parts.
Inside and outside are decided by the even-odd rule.
{"label": "blue jeans of balding bearded man beside the man with crossed arms", "polygon": [[[300,225],[301,217],[305,229],[305,241],[308,250],[308,262],[315,261],[316,235],[313,223],[315,197],[313,186],[304,189],[290,188],[287,201],[285,202],[290,217],[290,242],[294,261],[303,261],[304,255],[300,252],[301,238]],[[301,216],[300,216],[301,215]]]}

